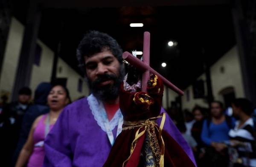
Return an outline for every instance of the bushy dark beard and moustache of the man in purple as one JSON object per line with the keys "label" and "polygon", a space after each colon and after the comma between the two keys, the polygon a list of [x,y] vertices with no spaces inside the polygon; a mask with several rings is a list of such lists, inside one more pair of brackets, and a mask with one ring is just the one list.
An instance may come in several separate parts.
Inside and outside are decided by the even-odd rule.
{"label": "bushy dark beard and moustache of the man in purple", "polygon": [[[120,85],[123,82],[125,70],[121,66],[119,69],[119,75],[103,74],[98,76],[93,82],[88,79],[90,92],[93,93],[97,99],[102,101],[114,100],[119,96]],[[101,82],[113,80],[113,84],[101,86]]]}

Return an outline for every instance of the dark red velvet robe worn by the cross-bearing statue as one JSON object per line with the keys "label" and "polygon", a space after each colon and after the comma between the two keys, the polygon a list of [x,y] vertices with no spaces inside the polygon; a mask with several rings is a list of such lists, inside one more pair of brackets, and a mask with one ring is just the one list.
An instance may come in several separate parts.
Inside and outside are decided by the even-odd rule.
{"label": "dark red velvet robe worn by the cross-bearing statue", "polygon": [[[140,93],[142,95],[145,94],[143,92]],[[149,106],[145,103],[140,103],[140,101],[138,101],[139,97],[136,98],[135,93],[125,91],[123,84],[121,85],[119,104],[124,117],[124,122],[138,122],[159,116],[163,97],[163,83],[159,78],[157,79],[157,84],[155,86],[148,86],[148,95],[154,101],[154,103]],[[126,126],[127,125],[124,124],[123,128]],[[140,127],[134,127],[128,130],[122,130],[116,138],[103,167],[138,167],[146,133],[137,140],[137,144],[132,153],[131,144],[134,141],[135,134],[139,128]],[[140,132],[144,129],[145,127],[142,127]],[[158,138],[159,127],[156,125],[154,130],[160,149],[163,149],[161,148],[161,140]],[[180,145],[177,144],[165,130],[162,131],[162,138],[164,141],[165,167],[195,167],[189,156],[187,156]],[[130,158],[128,159],[129,156]],[[158,164],[156,166],[158,167]]]}

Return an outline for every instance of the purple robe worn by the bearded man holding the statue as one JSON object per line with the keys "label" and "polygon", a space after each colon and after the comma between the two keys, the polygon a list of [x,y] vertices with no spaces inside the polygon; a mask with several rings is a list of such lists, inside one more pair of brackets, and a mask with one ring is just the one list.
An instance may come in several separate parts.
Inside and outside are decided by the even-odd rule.
{"label": "purple robe worn by the bearded man holding the statue", "polygon": [[[163,109],[162,112],[166,112]],[[161,119],[157,120],[159,125]],[[195,164],[191,148],[185,142],[168,114],[163,129],[183,147]],[[116,138],[117,126],[113,129]],[[111,144],[97,124],[86,98],[68,105],[62,111],[45,143],[44,167],[102,167]]]}

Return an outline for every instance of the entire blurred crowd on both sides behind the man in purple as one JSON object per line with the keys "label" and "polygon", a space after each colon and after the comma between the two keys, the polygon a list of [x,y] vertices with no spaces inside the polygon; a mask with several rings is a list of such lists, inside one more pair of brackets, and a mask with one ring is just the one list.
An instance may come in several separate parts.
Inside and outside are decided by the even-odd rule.
{"label": "entire blurred crowd on both sides behind the man in purple", "polygon": [[[16,102],[0,104],[0,162],[3,167],[36,166],[44,160],[43,142],[71,102],[61,85],[43,82],[34,98],[22,88]],[[169,111],[184,139],[192,147],[198,167],[256,167],[256,114],[248,99],[235,99],[224,108],[218,101],[210,108]],[[40,158],[41,157],[41,158]]]}

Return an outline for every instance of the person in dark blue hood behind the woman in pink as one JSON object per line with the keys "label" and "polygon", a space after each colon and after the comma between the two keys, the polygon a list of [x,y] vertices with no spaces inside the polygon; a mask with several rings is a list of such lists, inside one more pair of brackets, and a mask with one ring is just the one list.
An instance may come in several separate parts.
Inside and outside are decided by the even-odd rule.
{"label": "person in dark blue hood behind the woman in pink", "polygon": [[23,117],[19,142],[17,144],[16,150],[12,158],[12,167],[15,166],[17,158],[20,154],[20,150],[22,149],[23,145],[25,144],[28,138],[29,131],[35,119],[38,116],[49,112],[49,107],[47,105],[47,96],[51,88],[52,85],[50,83],[42,82],[37,86],[35,90],[34,104],[29,106],[28,110],[26,111]]}

